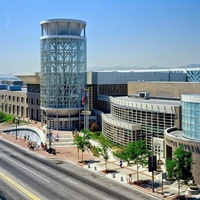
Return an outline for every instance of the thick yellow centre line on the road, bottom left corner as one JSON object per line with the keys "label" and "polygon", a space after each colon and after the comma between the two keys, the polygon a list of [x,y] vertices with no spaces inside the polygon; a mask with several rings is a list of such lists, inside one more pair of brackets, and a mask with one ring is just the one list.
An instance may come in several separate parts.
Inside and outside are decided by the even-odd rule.
{"label": "thick yellow centre line on the road, bottom left corner", "polygon": [[29,192],[27,189],[25,189],[20,184],[18,184],[17,182],[15,182],[13,179],[11,179],[7,175],[5,175],[3,172],[0,172],[0,177],[3,178],[4,180],[6,180],[8,183],[10,183],[12,186],[14,186],[15,188],[17,188],[18,190],[20,190],[22,193],[24,193],[30,199],[41,200],[40,198],[38,198],[37,196],[35,196],[33,193]]}

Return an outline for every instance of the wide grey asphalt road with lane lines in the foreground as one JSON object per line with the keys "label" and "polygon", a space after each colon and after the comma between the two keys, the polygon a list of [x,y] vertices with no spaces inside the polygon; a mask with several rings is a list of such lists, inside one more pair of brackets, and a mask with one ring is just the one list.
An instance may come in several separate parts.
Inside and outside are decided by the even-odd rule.
{"label": "wide grey asphalt road with lane lines in the foreground", "polygon": [[1,187],[0,195],[9,200],[153,199],[97,173],[42,158],[0,139],[1,183],[5,187]]}

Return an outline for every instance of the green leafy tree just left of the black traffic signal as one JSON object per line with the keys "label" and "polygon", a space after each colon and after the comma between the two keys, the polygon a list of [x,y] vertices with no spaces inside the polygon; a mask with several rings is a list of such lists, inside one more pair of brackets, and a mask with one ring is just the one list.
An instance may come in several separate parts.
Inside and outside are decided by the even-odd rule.
{"label": "green leafy tree just left of the black traffic signal", "polygon": [[131,142],[126,148],[127,160],[129,158],[137,165],[137,183],[139,183],[139,168],[140,166],[146,166],[148,164],[148,157],[150,154],[151,152],[146,148],[145,140]]}

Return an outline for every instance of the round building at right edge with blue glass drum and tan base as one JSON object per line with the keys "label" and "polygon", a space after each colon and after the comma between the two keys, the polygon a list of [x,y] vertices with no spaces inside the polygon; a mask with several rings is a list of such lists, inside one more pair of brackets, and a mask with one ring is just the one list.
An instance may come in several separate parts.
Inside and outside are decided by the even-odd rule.
{"label": "round building at right edge with blue glass drum and tan base", "polygon": [[181,145],[185,151],[192,152],[193,176],[200,184],[200,94],[183,94],[181,101],[182,127],[165,130],[165,158],[171,158],[173,151]]}

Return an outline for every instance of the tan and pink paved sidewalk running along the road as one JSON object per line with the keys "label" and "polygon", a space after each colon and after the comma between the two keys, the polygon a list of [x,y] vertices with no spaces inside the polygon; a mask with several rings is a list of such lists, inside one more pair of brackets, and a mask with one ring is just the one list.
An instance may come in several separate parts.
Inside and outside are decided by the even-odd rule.
{"label": "tan and pink paved sidewalk running along the road", "polygon": [[[41,124],[31,124],[31,127],[39,128],[41,129]],[[7,126],[1,126],[0,130],[3,131],[3,129],[7,129]],[[66,135],[66,134],[72,134],[70,131],[53,131],[53,134],[59,134]],[[18,140],[15,140],[14,135],[8,135],[5,133],[0,134],[0,138],[5,139],[11,143],[14,143],[16,145],[21,146],[22,148],[29,150],[28,142],[24,140],[24,138],[18,137]],[[139,180],[143,181],[142,186],[137,186],[135,184],[137,180],[137,169],[135,165],[127,165],[127,162],[124,162],[122,164],[122,167],[119,166],[119,160],[116,160],[112,158],[107,163],[107,169],[109,170],[109,173],[105,173],[105,162],[102,158],[97,158],[92,155],[91,152],[86,150],[83,153],[83,160],[85,161],[84,164],[78,162],[82,159],[82,152],[78,150],[75,145],[68,145],[64,147],[54,147],[56,149],[56,155],[49,154],[48,152],[42,150],[41,148],[37,151],[33,151],[34,153],[49,158],[49,159],[56,159],[60,161],[68,161],[70,163],[73,163],[75,165],[79,165],[86,170],[93,171],[95,173],[99,173],[106,178],[112,179],[113,181],[117,181],[120,184],[123,184],[128,187],[135,188],[137,190],[140,190],[141,192],[148,193],[149,195],[153,195],[157,197],[158,199],[166,199],[171,200],[177,195],[177,188],[170,186],[170,185],[164,185],[164,195],[162,195],[162,185],[161,185],[161,176],[157,175],[155,176],[155,192],[152,192],[152,184],[151,184],[151,172],[148,172],[147,168],[139,168]],[[200,199],[200,195],[189,195],[187,192],[182,191],[181,194],[185,194],[187,196],[187,199]]]}

